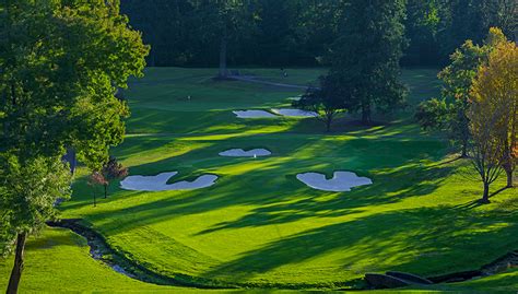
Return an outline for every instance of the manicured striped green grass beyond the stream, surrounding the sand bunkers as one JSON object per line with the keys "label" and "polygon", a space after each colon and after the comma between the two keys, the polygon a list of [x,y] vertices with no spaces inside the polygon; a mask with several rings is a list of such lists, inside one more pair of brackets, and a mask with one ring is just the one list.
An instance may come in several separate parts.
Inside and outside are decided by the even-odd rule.
{"label": "manicured striped green grass beyond the stream, surrounding the sand bunkers", "polygon": [[[249,71],[286,82],[275,75],[279,70]],[[63,217],[84,219],[114,248],[157,273],[247,286],[346,287],[366,272],[387,270],[439,275],[478,269],[517,249],[517,216],[508,202],[516,189],[476,205],[481,189],[468,178],[469,164],[451,161],[448,143],[411,120],[417,102],[438,95],[435,70],[403,72],[410,106],[378,116],[386,124],[361,127],[348,115],[331,133],[311,118],[236,118],[232,110],[290,106],[287,98],[301,91],[214,82],[213,72],[148,70],[126,92],[133,116],[125,143],[113,153],[131,175],[207,173],[220,176],[216,185],[138,192],[114,183],[109,198],[94,208],[86,170],[80,169],[72,200],[61,205]],[[321,72],[289,70],[290,77],[281,79],[306,84]],[[266,148],[273,154],[256,160],[217,155],[231,148]],[[295,178],[334,170],[355,172],[374,185],[325,192]],[[501,179],[494,190],[503,186]],[[32,252],[34,260],[40,252]],[[66,272],[70,264],[63,263],[57,271]],[[34,279],[34,289],[51,290],[42,285],[42,274],[36,267],[27,270],[26,283]],[[516,285],[508,282],[514,278],[510,272],[451,289],[505,290]]]}

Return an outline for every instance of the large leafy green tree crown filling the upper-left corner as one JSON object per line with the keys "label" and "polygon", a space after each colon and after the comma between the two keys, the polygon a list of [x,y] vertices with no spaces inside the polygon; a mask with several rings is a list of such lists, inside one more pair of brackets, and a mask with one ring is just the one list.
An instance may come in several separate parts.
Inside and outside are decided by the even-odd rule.
{"label": "large leafy green tree crown filling the upper-left corner", "polygon": [[[62,155],[72,146],[83,162],[98,166],[108,146],[121,142],[128,116],[116,89],[141,75],[148,48],[127,19],[114,14],[115,3],[66,3],[7,8],[1,148],[31,157]],[[43,36],[49,42],[40,42]]]}

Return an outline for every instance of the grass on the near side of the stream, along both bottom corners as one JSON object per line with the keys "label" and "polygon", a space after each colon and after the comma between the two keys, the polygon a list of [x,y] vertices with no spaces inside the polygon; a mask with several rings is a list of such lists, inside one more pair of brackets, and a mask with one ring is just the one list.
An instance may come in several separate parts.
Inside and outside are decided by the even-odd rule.
{"label": "grass on the near side of the stream, along both bottom corners", "polygon": [[[46,228],[27,243],[26,268],[20,293],[295,293],[281,290],[197,290],[145,284],[116,273],[90,257],[85,240],[61,228]],[[11,259],[0,262],[0,287],[4,289]],[[448,285],[368,293],[515,293],[518,272],[509,272]],[[485,291],[484,291],[485,290]],[[299,293],[301,291],[296,291]],[[330,293],[330,292],[329,292]],[[365,292],[333,292],[365,293]]]}

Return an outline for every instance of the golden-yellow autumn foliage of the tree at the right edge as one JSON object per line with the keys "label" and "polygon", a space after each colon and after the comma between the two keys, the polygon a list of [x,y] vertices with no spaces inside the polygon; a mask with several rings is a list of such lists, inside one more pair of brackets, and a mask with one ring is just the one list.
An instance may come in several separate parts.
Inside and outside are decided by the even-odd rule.
{"label": "golden-yellow autumn foliage of the tree at the right edge", "polygon": [[480,67],[470,89],[470,129],[473,162],[484,184],[491,184],[492,165],[507,174],[514,186],[518,129],[518,48],[505,38],[496,40],[486,64]]}

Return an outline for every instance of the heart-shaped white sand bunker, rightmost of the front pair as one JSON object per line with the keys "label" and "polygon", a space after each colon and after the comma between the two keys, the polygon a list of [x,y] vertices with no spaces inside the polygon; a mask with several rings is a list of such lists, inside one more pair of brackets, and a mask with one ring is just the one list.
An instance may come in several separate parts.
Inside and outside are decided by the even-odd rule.
{"label": "heart-shaped white sand bunker, rightmost of the front pair", "polygon": [[332,179],[326,179],[323,174],[305,173],[298,174],[297,179],[314,189],[333,192],[351,191],[351,188],[373,184],[369,178],[351,172],[334,172]]}

